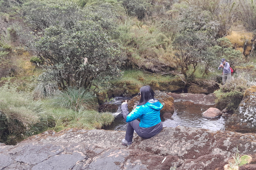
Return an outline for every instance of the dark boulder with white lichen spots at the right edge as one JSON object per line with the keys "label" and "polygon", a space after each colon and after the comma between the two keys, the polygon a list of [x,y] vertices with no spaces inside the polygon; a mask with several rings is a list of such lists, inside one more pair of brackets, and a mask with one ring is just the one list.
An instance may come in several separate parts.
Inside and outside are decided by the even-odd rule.
{"label": "dark boulder with white lichen spots at the right edge", "polygon": [[256,86],[251,86],[245,91],[235,114],[225,123],[225,129],[241,133],[256,133]]}

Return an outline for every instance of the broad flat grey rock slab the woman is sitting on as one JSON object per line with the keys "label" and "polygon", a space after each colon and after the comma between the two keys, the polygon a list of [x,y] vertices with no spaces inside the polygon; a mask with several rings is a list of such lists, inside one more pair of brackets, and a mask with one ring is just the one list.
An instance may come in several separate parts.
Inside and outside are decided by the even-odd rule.
{"label": "broad flat grey rock slab the woman is sitting on", "polygon": [[[256,151],[256,134],[206,129],[163,128],[156,136],[121,145],[125,131],[66,129],[31,136],[15,146],[0,144],[0,169],[223,169],[238,145]],[[163,160],[165,161],[161,163]],[[255,161],[252,161],[255,162]],[[254,164],[244,165],[248,169]]]}

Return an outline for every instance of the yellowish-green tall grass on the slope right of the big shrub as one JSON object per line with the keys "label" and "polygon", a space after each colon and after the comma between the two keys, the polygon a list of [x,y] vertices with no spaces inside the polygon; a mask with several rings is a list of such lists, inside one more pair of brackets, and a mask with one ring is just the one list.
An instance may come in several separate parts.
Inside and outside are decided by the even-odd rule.
{"label": "yellowish-green tall grass on the slope right of the big shrub", "polygon": [[154,26],[129,19],[119,25],[120,42],[127,47],[128,68],[150,72],[173,70],[171,41]]}

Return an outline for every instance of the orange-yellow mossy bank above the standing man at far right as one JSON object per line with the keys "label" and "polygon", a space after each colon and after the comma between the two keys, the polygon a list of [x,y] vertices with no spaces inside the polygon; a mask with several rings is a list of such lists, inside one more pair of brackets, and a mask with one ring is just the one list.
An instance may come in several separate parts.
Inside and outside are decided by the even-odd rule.
{"label": "orange-yellow mossy bank above the standing man at far right", "polygon": [[241,31],[231,31],[227,39],[234,45],[235,49],[243,52],[244,55],[248,55],[251,50],[251,40],[253,38],[252,32]]}

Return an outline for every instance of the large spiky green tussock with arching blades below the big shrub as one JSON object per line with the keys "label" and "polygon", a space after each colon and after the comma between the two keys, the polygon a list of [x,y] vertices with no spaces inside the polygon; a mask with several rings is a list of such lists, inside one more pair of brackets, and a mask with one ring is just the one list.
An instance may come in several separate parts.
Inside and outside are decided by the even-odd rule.
{"label": "large spiky green tussock with arching blades below the big shrub", "polygon": [[80,109],[96,109],[96,96],[88,92],[85,88],[69,87],[67,91],[60,92],[53,97],[53,104],[67,109],[78,111]]}

